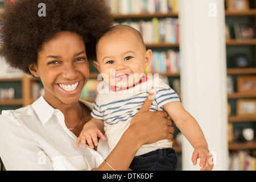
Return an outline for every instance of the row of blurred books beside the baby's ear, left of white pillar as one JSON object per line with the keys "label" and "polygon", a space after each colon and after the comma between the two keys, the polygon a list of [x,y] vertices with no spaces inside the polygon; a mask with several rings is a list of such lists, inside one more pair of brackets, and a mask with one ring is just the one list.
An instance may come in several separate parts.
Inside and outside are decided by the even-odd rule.
{"label": "row of blurred books beside the baby's ear, left of white pillar", "polygon": [[177,73],[180,72],[180,52],[172,49],[166,51],[153,51],[150,65],[146,73]]}

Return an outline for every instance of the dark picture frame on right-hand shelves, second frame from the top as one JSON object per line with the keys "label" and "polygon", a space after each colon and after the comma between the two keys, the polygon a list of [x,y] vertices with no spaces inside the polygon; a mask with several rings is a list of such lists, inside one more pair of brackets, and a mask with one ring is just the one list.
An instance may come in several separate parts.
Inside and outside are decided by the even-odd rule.
{"label": "dark picture frame on right-hand shelves, second frame from the top", "polygon": [[235,23],[234,32],[236,39],[253,39],[255,38],[255,24]]}

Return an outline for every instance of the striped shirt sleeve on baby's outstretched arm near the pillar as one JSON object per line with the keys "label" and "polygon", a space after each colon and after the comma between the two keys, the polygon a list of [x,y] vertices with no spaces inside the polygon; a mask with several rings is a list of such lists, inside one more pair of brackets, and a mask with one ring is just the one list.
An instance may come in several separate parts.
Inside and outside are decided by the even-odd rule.
{"label": "striped shirt sleeve on baby's outstretched arm near the pillar", "polygon": [[169,85],[165,84],[160,78],[155,80],[156,86],[156,98],[155,101],[158,104],[158,107],[163,110],[163,105],[168,102],[180,101],[179,96],[170,88]]}

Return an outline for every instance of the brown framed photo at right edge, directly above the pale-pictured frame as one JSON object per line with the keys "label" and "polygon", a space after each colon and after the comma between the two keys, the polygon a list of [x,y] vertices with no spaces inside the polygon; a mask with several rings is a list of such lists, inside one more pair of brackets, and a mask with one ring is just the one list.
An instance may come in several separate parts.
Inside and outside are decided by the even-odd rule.
{"label": "brown framed photo at right edge, directly above the pale-pictured frame", "polygon": [[238,76],[237,92],[256,93],[256,76]]}

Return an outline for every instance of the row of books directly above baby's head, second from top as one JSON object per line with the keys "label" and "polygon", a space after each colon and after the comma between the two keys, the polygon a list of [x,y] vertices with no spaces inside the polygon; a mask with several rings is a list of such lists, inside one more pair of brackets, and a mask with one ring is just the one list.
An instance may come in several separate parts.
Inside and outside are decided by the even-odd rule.
{"label": "row of books directly above baby's head, second from top", "polygon": [[139,22],[115,22],[114,24],[127,24],[141,32],[145,44],[178,43],[179,19],[177,18],[152,18]]}

